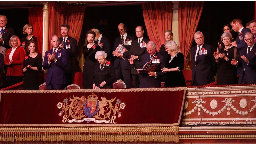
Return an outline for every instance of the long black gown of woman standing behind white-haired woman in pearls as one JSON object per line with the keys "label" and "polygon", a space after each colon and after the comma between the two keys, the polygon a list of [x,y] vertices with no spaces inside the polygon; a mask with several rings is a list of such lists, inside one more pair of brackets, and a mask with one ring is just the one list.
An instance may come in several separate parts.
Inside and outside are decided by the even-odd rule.
{"label": "long black gown of woman standing behind white-haired woman in pearls", "polygon": [[95,53],[100,51],[100,46],[95,45],[88,49],[87,45],[83,47],[84,49],[84,66],[83,66],[83,89],[92,89],[93,87],[93,71],[97,60],[95,59]]}

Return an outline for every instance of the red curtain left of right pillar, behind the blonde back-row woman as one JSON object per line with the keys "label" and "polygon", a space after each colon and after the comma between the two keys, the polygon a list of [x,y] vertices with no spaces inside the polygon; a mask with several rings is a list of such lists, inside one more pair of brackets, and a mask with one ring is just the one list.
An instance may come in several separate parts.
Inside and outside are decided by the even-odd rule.
{"label": "red curtain left of right pillar, behind the blonde back-row woman", "polygon": [[143,3],[142,9],[149,39],[159,51],[164,44],[164,31],[172,28],[172,2]]}

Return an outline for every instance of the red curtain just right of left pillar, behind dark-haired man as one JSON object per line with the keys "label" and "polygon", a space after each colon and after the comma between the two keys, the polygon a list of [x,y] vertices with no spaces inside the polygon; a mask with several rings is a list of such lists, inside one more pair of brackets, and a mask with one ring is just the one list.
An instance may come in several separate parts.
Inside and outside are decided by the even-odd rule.
{"label": "red curtain just right of left pillar, behind dark-haired man", "polygon": [[[60,26],[67,23],[70,26],[69,36],[79,41],[85,6],[63,6],[59,3],[49,3],[49,41],[53,35],[61,36]],[[49,44],[49,49],[51,49]]]}

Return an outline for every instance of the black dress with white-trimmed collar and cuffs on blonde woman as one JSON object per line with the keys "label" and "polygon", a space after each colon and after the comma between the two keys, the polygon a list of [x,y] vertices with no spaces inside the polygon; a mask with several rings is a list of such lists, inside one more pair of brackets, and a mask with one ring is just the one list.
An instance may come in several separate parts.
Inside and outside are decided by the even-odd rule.
{"label": "black dress with white-trimmed collar and cuffs on blonde woman", "polygon": [[167,78],[164,87],[185,87],[186,82],[183,75],[184,55],[178,52],[174,57],[169,56],[166,68],[177,68],[179,71],[166,72]]}

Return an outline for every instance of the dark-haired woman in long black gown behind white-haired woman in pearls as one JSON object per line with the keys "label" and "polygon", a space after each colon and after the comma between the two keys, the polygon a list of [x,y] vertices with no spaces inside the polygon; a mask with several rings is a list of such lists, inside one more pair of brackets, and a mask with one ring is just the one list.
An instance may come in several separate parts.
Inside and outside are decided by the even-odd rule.
{"label": "dark-haired woman in long black gown behind white-haired woman in pearls", "polygon": [[83,46],[84,50],[84,66],[83,66],[83,88],[93,88],[93,71],[97,60],[95,60],[95,53],[100,51],[100,46],[94,43],[96,34],[94,31],[89,30],[86,33],[88,44]]}

